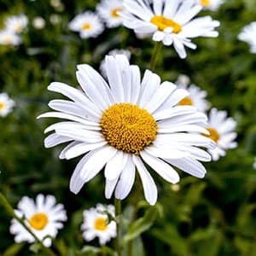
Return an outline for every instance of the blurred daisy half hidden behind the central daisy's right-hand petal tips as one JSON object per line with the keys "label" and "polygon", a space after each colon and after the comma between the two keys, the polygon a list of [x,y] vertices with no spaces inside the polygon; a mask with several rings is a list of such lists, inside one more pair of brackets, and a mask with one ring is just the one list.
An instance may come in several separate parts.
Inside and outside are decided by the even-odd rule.
{"label": "blurred daisy half hidden behind the central daisy's right-hand petal tips", "polygon": [[237,143],[234,142],[236,139],[236,121],[232,118],[227,117],[226,111],[219,111],[216,108],[212,108],[209,113],[209,126],[207,131],[210,134],[204,135],[210,137],[215,143],[216,148],[208,149],[208,152],[212,154],[212,160],[217,161],[220,156],[226,154],[226,150],[229,148],[236,148]]}

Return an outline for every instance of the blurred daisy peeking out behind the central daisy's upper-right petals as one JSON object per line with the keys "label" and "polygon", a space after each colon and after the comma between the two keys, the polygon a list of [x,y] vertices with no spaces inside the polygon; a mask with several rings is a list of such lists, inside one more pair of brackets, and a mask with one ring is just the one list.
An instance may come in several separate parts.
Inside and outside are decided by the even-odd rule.
{"label": "blurred daisy peeking out behind the central daisy's upper-right petals", "polygon": [[206,112],[209,108],[209,102],[207,102],[207,92],[201,90],[195,84],[187,84],[186,79],[178,77],[176,83],[178,89],[188,90],[189,96],[184,97],[177,105],[180,106],[194,106],[198,111]]}

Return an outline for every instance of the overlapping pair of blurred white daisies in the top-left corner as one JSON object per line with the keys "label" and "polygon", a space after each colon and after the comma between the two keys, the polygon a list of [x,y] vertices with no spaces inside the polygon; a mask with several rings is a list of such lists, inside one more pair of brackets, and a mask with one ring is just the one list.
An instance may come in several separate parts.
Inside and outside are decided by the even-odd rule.
{"label": "overlapping pair of blurred white daisies in the top-left corner", "polygon": [[4,29],[0,31],[0,44],[16,46],[22,43],[20,33],[27,26],[26,15],[9,16],[4,20]]}

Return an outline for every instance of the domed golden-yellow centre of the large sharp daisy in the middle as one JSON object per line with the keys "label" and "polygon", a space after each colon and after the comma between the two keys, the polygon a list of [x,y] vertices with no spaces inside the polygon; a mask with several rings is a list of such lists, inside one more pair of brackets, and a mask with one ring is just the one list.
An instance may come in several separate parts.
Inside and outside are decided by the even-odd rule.
{"label": "domed golden-yellow centre of the large sharp daisy in the middle", "polygon": [[106,141],[126,153],[138,154],[154,141],[157,133],[153,116],[130,103],[114,104],[105,110],[100,125]]}

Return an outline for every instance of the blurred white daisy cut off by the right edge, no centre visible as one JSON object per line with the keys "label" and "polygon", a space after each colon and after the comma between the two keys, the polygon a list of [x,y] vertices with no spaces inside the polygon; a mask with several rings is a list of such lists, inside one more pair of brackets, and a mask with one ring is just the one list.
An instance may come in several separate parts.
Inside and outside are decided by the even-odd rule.
{"label": "blurred white daisy cut off by the right edge, no centre visible", "polygon": [[250,52],[256,53],[256,21],[251,22],[247,26],[244,26],[241,33],[238,35],[238,39],[247,42],[250,46]]}

